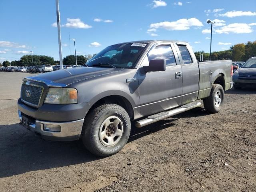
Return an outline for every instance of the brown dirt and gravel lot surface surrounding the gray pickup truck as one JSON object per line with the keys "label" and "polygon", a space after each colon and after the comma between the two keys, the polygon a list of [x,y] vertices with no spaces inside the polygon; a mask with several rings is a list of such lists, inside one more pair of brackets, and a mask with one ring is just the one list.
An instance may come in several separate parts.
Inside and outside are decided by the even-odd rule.
{"label": "brown dirt and gravel lot surface surrounding the gray pickup truck", "polygon": [[256,191],[256,90],[227,91],[218,114],[202,106],[133,126],[121,152],[98,158],[19,124],[25,76],[0,72],[0,192]]}

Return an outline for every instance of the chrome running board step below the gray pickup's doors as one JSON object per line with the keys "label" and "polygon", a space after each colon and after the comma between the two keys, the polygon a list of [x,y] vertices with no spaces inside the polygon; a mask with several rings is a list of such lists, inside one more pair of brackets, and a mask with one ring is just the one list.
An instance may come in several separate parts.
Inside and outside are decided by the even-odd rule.
{"label": "chrome running board step below the gray pickup's doors", "polygon": [[180,106],[178,108],[172,109],[170,111],[164,111],[164,112],[160,112],[151,116],[148,116],[148,118],[139,120],[137,122],[135,122],[135,126],[138,128],[141,128],[143,126],[152,124],[154,122],[166,119],[168,117],[174,116],[176,114],[180,114],[182,112],[188,111],[190,109],[196,108],[201,106],[202,103],[201,102],[192,102],[183,106]]}

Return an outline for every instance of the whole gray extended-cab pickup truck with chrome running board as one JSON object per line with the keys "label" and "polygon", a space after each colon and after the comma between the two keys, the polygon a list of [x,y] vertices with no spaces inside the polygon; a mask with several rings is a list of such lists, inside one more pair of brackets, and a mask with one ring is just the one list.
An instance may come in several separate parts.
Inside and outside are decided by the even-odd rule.
{"label": "whole gray extended-cab pickup truck with chrome running board", "polygon": [[201,106],[222,108],[232,61],[199,62],[187,42],[136,41],[108,46],[84,67],[23,79],[21,124],[48,140],[82,139],[98,156],[126,144],[137,128]]}

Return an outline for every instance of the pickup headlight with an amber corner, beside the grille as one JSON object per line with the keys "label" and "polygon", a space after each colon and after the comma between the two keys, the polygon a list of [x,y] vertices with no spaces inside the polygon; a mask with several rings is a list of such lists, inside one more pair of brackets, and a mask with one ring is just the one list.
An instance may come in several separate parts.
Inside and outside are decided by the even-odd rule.
{"label": "pickup headlight with an amber corner, beside the grille", "polygon": [[77,101],[77,90],[74,88],[49,88],[44,103],[74,104]]}

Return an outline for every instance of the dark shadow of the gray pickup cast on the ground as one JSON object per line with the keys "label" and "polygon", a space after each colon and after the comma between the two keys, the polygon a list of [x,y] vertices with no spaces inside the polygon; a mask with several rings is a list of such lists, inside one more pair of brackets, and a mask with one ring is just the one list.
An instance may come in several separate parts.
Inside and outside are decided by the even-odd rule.
{"label": "dark shadow of the gray pickup cast on the ground", "polygon": [[[193,109],[143,128],[135,128],[128,142],[175,125],[178,118],[206,115],[202,109]],[[55,142],[43,140],[20,124],[0,125],[0,178],[35,170],[45,170],[93,162],[101,159],[88,152],[81,141]]]}

